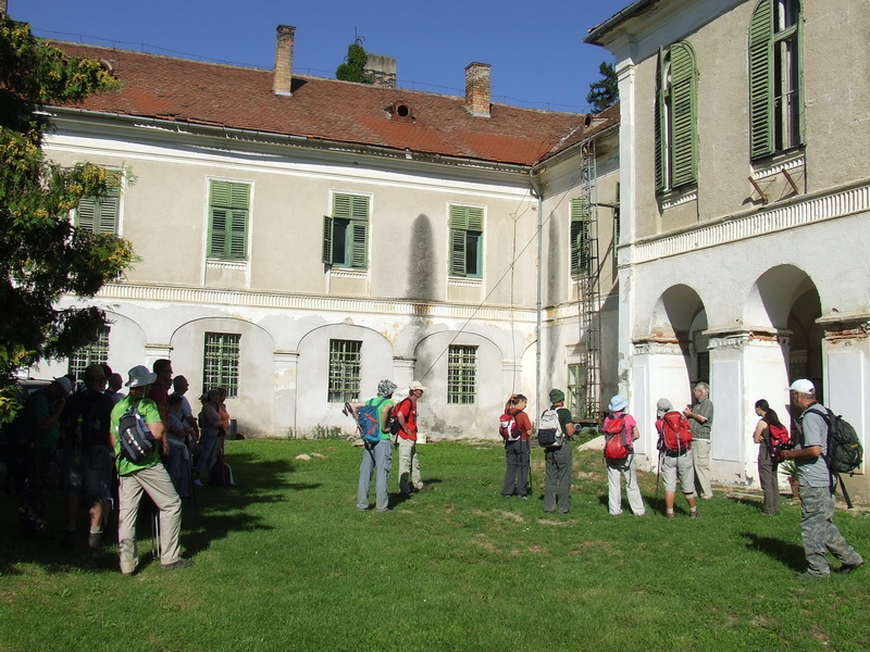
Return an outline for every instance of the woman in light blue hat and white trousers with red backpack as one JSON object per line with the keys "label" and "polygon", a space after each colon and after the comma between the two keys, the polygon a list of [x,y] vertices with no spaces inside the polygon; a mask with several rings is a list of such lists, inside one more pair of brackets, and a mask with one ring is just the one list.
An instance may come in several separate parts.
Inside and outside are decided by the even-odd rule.
{"label": "woman in light blue hat and white trousers with red backpack", "polygon": [[641,488],[637,486],[637,464],[634,459],[634,440],[641,437],[637,422],[625,412],[629,401],[622,394],[610,399],[610,414],[605,417],[605,462],[607,464],[608,511],[616,516],[622,514],[622,482],[625,477],[625,493],[635,516],[646,514]]}

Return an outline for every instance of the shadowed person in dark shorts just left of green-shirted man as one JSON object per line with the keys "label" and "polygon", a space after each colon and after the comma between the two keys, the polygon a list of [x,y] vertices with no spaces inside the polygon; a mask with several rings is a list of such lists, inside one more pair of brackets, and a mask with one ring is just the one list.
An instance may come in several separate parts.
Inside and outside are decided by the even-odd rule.
{"label": "shadowed person in dark shorts just left of green-shirted man", "polygon": [[88,365],[84,380],[85,391],[72,394],[63,413],[61,489],[66,494],[63,547],[75,547],[78,506],[84,497],[90,515],[88,548],[95,550],[102,541],[112,504],[109,425],[114,403],[104,393],[107,378],[102,365]]}

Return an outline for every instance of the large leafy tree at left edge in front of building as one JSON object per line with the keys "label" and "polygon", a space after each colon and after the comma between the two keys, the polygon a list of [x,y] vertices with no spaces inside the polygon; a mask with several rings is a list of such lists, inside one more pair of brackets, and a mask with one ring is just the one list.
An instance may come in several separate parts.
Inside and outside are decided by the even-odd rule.
{"label": "large leafy tree at left edge in front of building", "polygon": [[76,228],[83,197],[103,197],[115,176],[87,163],[61,167],[42,152],[46,106],[79,102],[117,86],[89,59],[66,57],[0,11],[0,421],[9,418],[13,374],[65,358],[107,324],[97,308],[58,308],[62,296],[94,297],[133,261],[129,242]]}

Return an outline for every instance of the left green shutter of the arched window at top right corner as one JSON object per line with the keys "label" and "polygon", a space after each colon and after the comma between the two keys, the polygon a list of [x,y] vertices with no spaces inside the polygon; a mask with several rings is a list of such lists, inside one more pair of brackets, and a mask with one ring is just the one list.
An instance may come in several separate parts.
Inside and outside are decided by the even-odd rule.
{"label": "left green shutter of the arched window at top right corner", "polygon": [[749,25],[749,155],[773,153],[773,0],[761,0]]}

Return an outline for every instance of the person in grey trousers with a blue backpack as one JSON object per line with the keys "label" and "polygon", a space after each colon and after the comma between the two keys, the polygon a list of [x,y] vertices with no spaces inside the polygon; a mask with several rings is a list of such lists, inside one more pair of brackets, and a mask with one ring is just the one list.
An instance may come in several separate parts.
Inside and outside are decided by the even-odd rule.
{"label": "person in grey trousers with a blue backpack", "polygon": [[[364,403],[345,403],[345,412],[350,413],[360,427],[363,438],[362,460],[360,461],[360,481],[357,487],[357,509],[369,509],[369,485],[372,473],[375,478],[375,510],[389,511],[389,469],[393,461],[393,435],[389,431],[389,413],[393,409],[393,392],[396,384],[393,380],[381,380],[377,384],[377,396]],[[371,415],[370,415],[371,414]],[[370,428],[366,421],[375,419]],[[369,430],[374,430],[370,432]]]}

